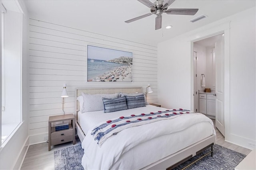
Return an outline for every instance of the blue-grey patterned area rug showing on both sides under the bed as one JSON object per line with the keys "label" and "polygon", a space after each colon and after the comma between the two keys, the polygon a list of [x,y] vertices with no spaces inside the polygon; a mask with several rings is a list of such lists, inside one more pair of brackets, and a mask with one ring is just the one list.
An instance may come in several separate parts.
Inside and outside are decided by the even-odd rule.
{"label": "blue-grey patterned area rug showing on both sides under the bed", "polygon": [[[194,156],[190,160],[177,166],[175,170],[180,170],[196,160],[198,157],[210,151],[210,148],[201,154]],[[209,154],[195,164],[189,166],[187,170],[234,170],[234,168],[245,158],[246,155],[234,150],[227,149],[220,145],[213,146],[213,157]],[[55,170],[83,170],[81,165],[84,150],[81,145],[68,147],[54,151]]]}

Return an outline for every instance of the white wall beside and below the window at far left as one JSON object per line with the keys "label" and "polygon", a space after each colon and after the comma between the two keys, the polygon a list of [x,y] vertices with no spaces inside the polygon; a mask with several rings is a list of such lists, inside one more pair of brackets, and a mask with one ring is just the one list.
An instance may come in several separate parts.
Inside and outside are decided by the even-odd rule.
{"label": "white wall beside and below the window at far left", "polygon": [[[24,12],[22,18],[22,124],[1,149],[0,169],[19,169],[28,149],[28,15],[22,2],[13,1]],[[15,107],[15,106],[13,106]]]}

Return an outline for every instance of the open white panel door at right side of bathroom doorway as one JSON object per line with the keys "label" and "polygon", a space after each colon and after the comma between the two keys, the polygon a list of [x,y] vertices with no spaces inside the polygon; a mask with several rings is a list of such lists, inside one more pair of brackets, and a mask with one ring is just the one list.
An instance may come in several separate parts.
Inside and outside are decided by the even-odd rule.
{"label": "open white panel door at right side of bathroom doorway", "polygon": [[224,37],[215,43],[216,61],[216,127],[225,136],[224,121]]}

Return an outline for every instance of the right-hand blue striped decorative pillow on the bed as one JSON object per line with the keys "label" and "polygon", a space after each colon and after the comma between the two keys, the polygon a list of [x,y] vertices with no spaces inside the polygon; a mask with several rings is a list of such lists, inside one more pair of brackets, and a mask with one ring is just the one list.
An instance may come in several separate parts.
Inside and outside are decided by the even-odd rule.
{"label": "right-hand blue striped decorative pillow on the bed", "polygon": [[144,94],[138,96],[125,96],[128,109],[145,106]]}

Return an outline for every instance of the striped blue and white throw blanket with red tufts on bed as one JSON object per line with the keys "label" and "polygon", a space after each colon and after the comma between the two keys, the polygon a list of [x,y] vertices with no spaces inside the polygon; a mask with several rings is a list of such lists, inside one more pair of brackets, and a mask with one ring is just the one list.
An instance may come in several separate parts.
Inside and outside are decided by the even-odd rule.
{"label": "striped blue and white throw blanket with red tufts on bed", "polygon": [[139,115],[121,116],[116,119],[108,120],[95,127],[92,130],[91,135],[98,145],[102,145],[112,135],[116,135],[118,132],[147,123],[153,123],[156,121],[174,119],[177,116],[192,113],[189,110],[184,109],[172,109],[166,111],[158,111],[156,113],[141,113]]}

